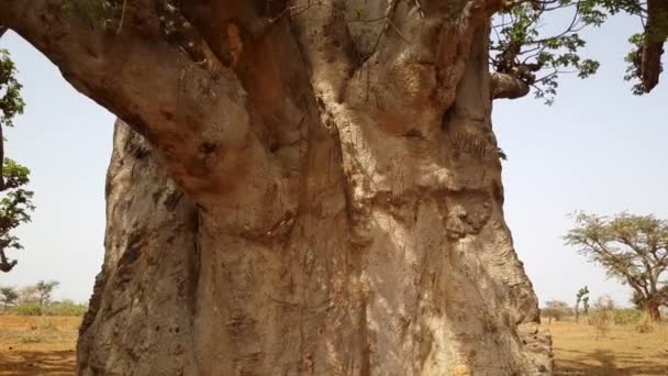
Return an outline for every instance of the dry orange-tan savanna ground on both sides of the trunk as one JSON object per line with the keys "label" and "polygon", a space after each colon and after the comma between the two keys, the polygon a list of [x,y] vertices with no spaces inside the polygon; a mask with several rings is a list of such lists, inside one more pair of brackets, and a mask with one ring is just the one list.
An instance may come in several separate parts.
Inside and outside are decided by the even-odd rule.
{"label": "dry orange-tan savanna ground on both sides of the trunk", "polygon": [[[80,318],[0,316],[0,375],[73,375]],[[668,324],[638,333],[612,325],[603,338],[586,323],[554,322],[556,375],[666,376]]]}

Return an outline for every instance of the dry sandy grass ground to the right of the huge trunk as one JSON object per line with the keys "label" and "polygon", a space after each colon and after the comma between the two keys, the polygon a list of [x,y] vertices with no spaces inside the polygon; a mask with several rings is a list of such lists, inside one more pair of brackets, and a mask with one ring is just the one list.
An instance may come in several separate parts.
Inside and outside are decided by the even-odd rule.
{"label": "dry sandy grass ground to the right of the huge trunk", "polygon": [[668,375],[668,324],[639,333],[636,325],[612,325],[597,340],[593,325],[553,322],[555,375],[666,376]]}

